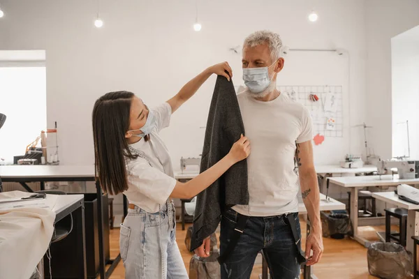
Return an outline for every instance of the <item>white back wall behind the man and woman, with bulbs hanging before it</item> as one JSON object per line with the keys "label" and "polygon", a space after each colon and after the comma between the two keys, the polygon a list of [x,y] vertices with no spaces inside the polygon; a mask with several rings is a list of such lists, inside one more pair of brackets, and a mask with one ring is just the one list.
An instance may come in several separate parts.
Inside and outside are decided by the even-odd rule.
{"label": "white back wall behind the man and woman, with bulbs hanging before it", "polygon": [[[45,49],[47,53],[47,123],[58,121],[60,159],[64,164],[94,162],[91,109],[99,96],[112,90],[131,90],[150,105],[167,100],[193,75],[220,61],[229,61],[235,83],[241,83],[241,56],[228,49],[241,45],[258,29],[281,34],[294,48],[344,47],[350,53],[351,93],[348,96],[348,57],[317,53],[297,57],[292,82],[323,85],[341,83],[351,101],[345,104],[346,139],[328,139],[315,149],[316,162],[332,163],[345,153],[362,151],[362,130],[349,126],[365,121],[365,1],[319,0],[319,20],[307,22],[313,3],[307,1],[199,1],[200,32],[192,29],[193,0],[102,0],[104,27],[94,27],[94,1],[3,0],[0,50]],[[263,4],[261,4],[263,3]],[[300,55],[300,54],[293,54]],[[302,54],[301,54],[302,55]],[[291,58],[288,61],[292,61]],[[287,67],[287,64],[286,64]],[[331,68],[332,67],[332,68]],[[335,68],[333,68],[335,67]],[[300,69],[300,70],[297,70]],[[332,69],[332,70],[331,70]],[[329,73],[340,73],[337,79]],[[284,71],[284,77],[286,77]],[[288,75],[290,76],[290,75]],[[318,77],[318,79],[314,79]],[[202,149],[213,77],[163,132],[175,169],[181,156],[198,156]],[[290,80],[281,80],[286,84]],[[289,83],[288,83],[289,84]],[[338,84],[339,85],[339,84]]]}

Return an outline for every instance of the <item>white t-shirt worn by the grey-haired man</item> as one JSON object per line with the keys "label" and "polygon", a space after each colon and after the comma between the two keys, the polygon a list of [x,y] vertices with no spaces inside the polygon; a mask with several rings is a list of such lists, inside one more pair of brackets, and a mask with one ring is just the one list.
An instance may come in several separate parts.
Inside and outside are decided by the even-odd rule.
{"label": "white t-shirt worn by the grey-haired man", "polygon": [[249,205],[233,206],[246,216],[298,212],[298,177],[293,171],[295,142],[313,139],[311,116],[304,105],[281,93],[270,102],[237,95],[244,130],[251,142],[247,158]]}

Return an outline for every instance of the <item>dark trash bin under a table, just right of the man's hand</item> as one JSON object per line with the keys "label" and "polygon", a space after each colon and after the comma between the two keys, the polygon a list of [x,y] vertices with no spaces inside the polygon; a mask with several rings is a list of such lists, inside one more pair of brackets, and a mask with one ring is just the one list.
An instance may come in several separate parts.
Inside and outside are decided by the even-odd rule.
{"label": "dark trash bin under a table, just right of the man's hand", "polygon": [[346,235],[353,235],[351,219],[347,214],[321,213],[323,236],[332,239],[343,239]]}

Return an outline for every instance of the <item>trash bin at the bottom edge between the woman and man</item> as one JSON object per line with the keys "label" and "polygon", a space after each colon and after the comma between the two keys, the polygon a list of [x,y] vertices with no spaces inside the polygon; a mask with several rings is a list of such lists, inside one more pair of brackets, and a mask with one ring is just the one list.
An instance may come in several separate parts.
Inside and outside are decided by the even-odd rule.
{"label": "trash bin at the bottom edge between the woman and man", "polygon": [[220,264],[216,261],[219,256],[219,250],[213,250],[210,257],[193,255],[189,263],[189,279],[220,279]]}

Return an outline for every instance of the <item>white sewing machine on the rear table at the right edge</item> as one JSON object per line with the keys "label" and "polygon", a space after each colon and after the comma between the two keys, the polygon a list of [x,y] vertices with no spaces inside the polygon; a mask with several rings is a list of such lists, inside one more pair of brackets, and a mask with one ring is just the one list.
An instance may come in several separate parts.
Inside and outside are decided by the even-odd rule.
{"label": "white sewing machine on the rear table at the right edge", "polygon": [[409,160],[378,160],[378,175],[388,174],[392,168],[397,169],[399,179],[419,178],[419,161]]}

